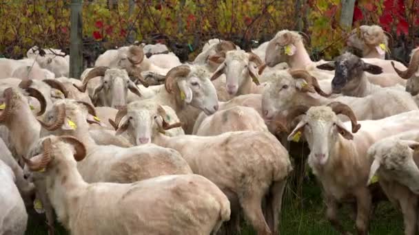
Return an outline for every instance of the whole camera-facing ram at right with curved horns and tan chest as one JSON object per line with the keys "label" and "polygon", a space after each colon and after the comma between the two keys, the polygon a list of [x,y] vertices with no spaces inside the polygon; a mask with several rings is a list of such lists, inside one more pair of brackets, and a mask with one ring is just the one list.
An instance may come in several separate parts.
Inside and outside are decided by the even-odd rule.
{"label": "whole camera-facing ram at right with curved horns and tan chest", "polygon": [[[327,219],[338,232],[345,234],[337,218],[338,203],[355,199],[356,230],[358,234],[367,234],[371,192],[366,182],[372,164],[372,159],[367,157],[367,150],[384,137],[418,128],[419,111],[358,123],[351,109],[338,102],[327,107],[298,109],[298,112],[292,112],[293,116],[288,120],[294,120],[293,117],[300,114],[305,115],[288,140],[294,139],[296,135],[304,135],[307,139],[310,148],[308,163],[324,190]],[[340,113],[350,118],[351,131],[347,129],[349,122],[344,124],[338,119]]]}

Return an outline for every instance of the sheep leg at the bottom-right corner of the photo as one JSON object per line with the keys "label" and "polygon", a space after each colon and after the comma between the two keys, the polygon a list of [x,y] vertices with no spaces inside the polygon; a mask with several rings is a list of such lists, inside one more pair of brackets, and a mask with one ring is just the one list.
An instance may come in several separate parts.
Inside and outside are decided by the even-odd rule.
{"label": "sheep leg at the bottom-right corner of the photo", "polygon": [[411,194],[406,196],[399,201],[405,223],[405,234],[415,235],[417,230],[416,221],[418,221],[418,212],[416,212],[416,208],[418,208],[418,196]]}

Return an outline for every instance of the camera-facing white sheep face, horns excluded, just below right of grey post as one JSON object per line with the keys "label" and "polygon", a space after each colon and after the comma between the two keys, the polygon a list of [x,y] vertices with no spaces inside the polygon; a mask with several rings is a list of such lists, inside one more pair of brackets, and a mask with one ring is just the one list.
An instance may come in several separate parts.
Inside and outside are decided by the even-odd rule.
{"label": "camera-facing white sheep face, horns excluded, just below right of grey post", "polygon": [[108,69],[101,84],[94,89],[93,100],[99,98],[103,106],[121,109],[127,105],[128,90],[139,96],[139,88],[130,80],[127,71]]}

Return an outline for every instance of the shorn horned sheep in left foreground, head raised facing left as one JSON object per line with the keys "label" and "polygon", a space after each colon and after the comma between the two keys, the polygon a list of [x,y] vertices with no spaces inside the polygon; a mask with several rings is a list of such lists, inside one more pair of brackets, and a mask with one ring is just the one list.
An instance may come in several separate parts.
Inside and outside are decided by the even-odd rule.
{"label": "shorn horned sheep in left foreground, head raised facing left", "polygon": [[210,234],[229,220],[227,197],[204,177],[88,183],[76,167],[87,152],[74,137],[50,136],[34,149],[38,155],[25,160],[30,177],[47,186],[58,220],[72,234]]}

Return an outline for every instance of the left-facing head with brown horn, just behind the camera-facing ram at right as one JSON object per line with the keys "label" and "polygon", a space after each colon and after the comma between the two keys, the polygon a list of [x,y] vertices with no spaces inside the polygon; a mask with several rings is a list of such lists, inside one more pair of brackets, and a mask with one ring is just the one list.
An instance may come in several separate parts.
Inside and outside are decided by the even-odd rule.
{"label": "left-facing head with brown horn, just behind the camera-facing ram at right", "polygon": [[328,96],[320,89],[316,78],[302,69],[269,71],[265,76],[273,78],[262,94],[263,118],[267,121],[299,102],[305,102],[309,93]]}

